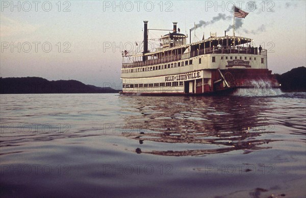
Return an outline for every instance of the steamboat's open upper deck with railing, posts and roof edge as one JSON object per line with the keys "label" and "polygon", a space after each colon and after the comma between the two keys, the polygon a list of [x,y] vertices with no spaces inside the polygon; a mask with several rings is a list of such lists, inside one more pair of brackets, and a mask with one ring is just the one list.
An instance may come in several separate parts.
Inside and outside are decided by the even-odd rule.
{"label": "steamboat's open upper deck with railing, posts and roof edge", "polygon": [[[234,45],[235,41],[235,45]],[[251,47],[252,39],[245,37],[222,36],[134,56],[123,56],[127,62],[122,68],[134,68],[189,59],[205,54],[251,54],[266,57],[267,51],[259,51],[258,47]]]}

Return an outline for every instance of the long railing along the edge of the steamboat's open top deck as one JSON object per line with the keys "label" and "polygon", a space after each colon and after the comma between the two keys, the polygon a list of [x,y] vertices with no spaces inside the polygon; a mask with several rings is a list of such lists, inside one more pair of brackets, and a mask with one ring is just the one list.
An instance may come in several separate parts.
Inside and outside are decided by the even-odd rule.
{"label": "long railing along the edge of the steamboat's open top deck", "polygon": [[[250,47],[210,47],[205,48],[197,51],[193,51],[190,53],[183,54],[183,59],[185,58],[192,58],[199,55],[204,54],[252,54],[252,55],[261,55],[266,57],[267,56],[267,50],[262,50],[259,52],[258,48],[250,48]],[[168,63],[172,61],[178,61],[182,59],[182,55],[173,55],[168,57],[163,57],[159,59],[150,59],[146,61],[137,61],[134,63],[123,63],[122,68],[134,68],[134,67],[141,67],[141,66],[147,66],[147,65],[155,65],[155,64],[162,64],[162,63]]]}

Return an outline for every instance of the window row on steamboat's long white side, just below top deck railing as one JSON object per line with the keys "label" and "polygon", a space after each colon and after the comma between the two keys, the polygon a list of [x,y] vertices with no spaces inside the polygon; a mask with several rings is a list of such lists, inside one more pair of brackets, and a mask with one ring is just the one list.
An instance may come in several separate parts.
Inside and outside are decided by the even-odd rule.
{"label": "window row on steamboat's long white side, just below top deck railing", "polygon": [[142,68],[135,69],[122,69],[122,73],[133,73],[133,72],[142,72],[142,71],[154,71],[159,69],[168,69],[173,67],[183,67],[186,65],[192,65],[193,60],[186,60],[178,63],[169,63],[164,65],[156,65],[156,66],[146,66]]}

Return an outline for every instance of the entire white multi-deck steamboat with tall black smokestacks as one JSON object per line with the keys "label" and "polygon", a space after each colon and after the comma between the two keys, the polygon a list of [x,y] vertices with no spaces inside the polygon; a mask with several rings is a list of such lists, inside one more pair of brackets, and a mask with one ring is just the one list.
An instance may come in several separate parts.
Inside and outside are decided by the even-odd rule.
{"label": "entire white multi-deck steamboat with tall black smokestacks", "polygon": [[[210,35],[187,44],[188,35],[173,30],[161,36],[161,47],[148,50],[148,21],[144,22],[143,52],[122,52],[122,94],[227,94],[263,80],[278,83],[267,68],[267,50],[251,47],[252,39]],[[152,29],[153,30],[153,29]]]}

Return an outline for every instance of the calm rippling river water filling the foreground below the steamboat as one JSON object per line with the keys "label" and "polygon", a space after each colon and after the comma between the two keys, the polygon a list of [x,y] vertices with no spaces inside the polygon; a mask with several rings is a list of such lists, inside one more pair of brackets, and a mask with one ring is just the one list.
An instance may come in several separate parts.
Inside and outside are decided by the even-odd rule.
{"label": "calm rippling river water filling the foreground below the steamboat", "polygon": [[306,93],[266,95],[0,95],[0,196],[305,197]]}

